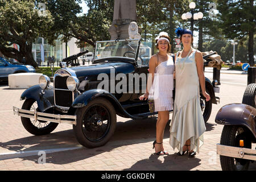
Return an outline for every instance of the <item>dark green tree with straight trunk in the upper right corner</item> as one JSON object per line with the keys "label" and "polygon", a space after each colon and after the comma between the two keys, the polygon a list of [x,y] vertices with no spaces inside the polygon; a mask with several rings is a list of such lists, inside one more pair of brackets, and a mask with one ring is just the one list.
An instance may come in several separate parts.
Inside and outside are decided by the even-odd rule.
{"label": "dark green tree with straight trunk in the upper right corner", "polygon": [[248,37],[248,57],[254,66],[255,4],[250,1],[218,0],[220,27],[226,38],[244,41]]}

